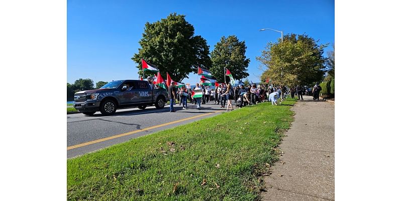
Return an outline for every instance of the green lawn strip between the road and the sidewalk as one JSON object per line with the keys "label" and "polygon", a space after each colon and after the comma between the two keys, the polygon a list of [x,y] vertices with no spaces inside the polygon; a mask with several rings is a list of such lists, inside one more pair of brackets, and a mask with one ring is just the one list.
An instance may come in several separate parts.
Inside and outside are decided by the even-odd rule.
{"label": "green lawn strip between the road and the sidewalk", "polygon": [[256,200],[289,108],[245,107],[68,159],[67,199]]}

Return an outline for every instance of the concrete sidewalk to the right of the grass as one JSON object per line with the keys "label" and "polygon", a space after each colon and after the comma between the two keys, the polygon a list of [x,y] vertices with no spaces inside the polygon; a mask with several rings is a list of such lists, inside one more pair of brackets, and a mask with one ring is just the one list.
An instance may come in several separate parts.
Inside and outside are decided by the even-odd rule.
{"label": "concrete sidewalk to the right of the grass", "polygon": [[335,105],[305,96],[291,110],[284,154],[263,177],[262,200],[335,200]]}

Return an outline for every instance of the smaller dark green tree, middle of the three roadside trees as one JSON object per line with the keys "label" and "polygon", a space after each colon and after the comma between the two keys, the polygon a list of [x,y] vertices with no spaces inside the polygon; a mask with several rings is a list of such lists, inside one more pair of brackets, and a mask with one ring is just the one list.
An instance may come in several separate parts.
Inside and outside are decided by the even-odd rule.
{"label": "smaller dark green tree, middle of the three roadside trees", "polygon": [[246,58],[246,49],[246,43],[240,42],[236,36],[229,36],[228,38],[223,36],[221,41],[215,45],[211,52],[212,67],[210,70],[219,82],[225,80],[226,71],[224,68],[229,69],[235,80],[249,76],[247,67],[250,59]]}

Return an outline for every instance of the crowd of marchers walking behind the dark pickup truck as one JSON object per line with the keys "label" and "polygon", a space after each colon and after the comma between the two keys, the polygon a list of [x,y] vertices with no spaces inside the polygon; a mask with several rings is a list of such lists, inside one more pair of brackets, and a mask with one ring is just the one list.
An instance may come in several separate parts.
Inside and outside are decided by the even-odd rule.
{"label": "crowd of marchers walking behind the dark pickup truck", "polygon": [[[152,80],[149,79],[150,84]],[[153,87],[157,87],[153,85]],[[202,90],[202,97],[192,97],[192,92],[195,90]],[[303,100],[303,95],[313,95],[314,100],[319,99],[321,86],[317,83],[314,87],[309,88],[307,86],[296,85],[294,87],[286,87],[282,85],[273,86],[268,84],[250,84],[245,85],[243,83],[234,87],[230,83],[221,83],[219,86],[212,88],[210,85],[203,85],[196,83],[195,87],[187,88],[181,86],[175,87],[174,84],[170,84],[167,88],[169,100],[170,100],[170,112],[175,112],[173,105],[178,100],[179,105],[187,110],[188,103],[196,105],[199,110],[202,105],[212,103],[214,105],[221,105],[221,108],[227,106],[226,111],[234,110],[232,101],[236,108],[242,108],[246,106],[257,105],[261,102],[271,102],[272,105],[277,105],[278,102],[284,100],[289,94],[290,97],[298,100]]]}

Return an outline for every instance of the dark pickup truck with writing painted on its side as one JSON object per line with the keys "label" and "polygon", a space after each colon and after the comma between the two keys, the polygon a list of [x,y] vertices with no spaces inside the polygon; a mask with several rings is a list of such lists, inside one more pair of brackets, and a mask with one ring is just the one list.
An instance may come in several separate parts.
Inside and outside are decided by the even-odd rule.
{"label": "dark pickup truck with writing painted on its side", "polygon": [[161,109],[165,107],[167,99],[166,89],[154,89],[148,81],[116,80],[99,89],[76,92],[74,108],[84,115],[93,115],[97,111],[103,115],[112,115],[122,108],[145,109],[155,105]]}

